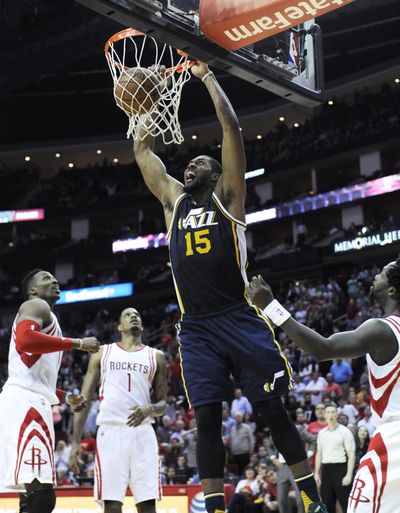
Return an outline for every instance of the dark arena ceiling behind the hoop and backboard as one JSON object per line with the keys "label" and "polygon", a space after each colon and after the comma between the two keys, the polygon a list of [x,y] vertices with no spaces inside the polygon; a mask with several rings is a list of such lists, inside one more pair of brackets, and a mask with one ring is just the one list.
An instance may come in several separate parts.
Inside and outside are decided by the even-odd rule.
{"label": "dark arena ceiling behind the hoop and backboard", "polygon": [[[328,87],[399,59],[400,2],[356,0],[318,20],[324,34]],[[123,133],[103,55],[121,26],[73,0],[0,0],[1,143]],[[236,109],[263,108],[277,97],[219,73]],[[181,118],[212,113],[189,82]]]}

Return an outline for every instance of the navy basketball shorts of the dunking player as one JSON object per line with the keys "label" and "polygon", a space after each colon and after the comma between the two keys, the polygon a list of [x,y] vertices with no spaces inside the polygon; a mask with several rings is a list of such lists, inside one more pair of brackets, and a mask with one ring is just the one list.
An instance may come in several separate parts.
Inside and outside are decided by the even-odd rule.
{"label": "navy basketball shorts of the dunking player", "polygon": [[189,403],[229,400],[235,378],[251,402],[286,393],[291,368],[260,311],[248,304],[223,313],[184,317],[179,349]]}

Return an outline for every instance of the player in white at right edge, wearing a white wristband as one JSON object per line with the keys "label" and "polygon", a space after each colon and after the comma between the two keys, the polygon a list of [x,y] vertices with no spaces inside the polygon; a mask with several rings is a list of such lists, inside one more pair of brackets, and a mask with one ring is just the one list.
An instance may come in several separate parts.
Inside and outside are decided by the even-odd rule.
{"label": "player in white at right edge, wearing a white wristband", "polygon": [[382,269],[370,289],[385,317],[328,338],[295,321],[261,276],[253,278],[248,292],[271,321],[317,361],[366,355],[377,429],[354,478],[347,512],[400,511],[400,258]]}

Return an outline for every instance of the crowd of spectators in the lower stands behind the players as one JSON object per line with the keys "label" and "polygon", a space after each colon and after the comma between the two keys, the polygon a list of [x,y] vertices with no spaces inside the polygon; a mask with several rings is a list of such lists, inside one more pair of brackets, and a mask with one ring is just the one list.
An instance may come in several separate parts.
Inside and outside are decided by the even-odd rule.
{"label": "crowd of spectators in the lower stands behind the players", "polygon": [[[370,317],[381,315],[371,304],[368,291],[378,269],[365,268],[352,273],[338,272],[326,280],[299,280],[282,285],[276,296],[301,323],[323,335],[351,330]],[[194,412],[188,408],[182,382],[175,323],[179,319],[178,305],[169,303],[138,307],[145,326],[144,342],[161,349],[168,362],[168,400],[165,415],[158,419],[155,429],[161,456],[161,478],[164,484],[197,483],[196,423]],[[100,309],[96,314],[62,311],[60,322],[69,336],[94,335],[108,344],[118,339],[117,312]],[[316,435],[324,426],[324,405],[336,402],[339,422],[354,433],[357,462],[365,453],[373,434],[369,408],[369,386],[364,359],[336,360],[318,364],[298,349],[281,330],[276,331],[284,355],[288,358],[294,386],[285,397],[290,416],[301,432],[305,432],[310,462],[314,461]],[[0,385],[6,379],[6,360],[10,326],[0,327]],[[65,352],[59,374],[59,386],[69,391],[80,390],[88,356],[82,352]],[[230,401],[223,405],[222,436],[226,448],[226,482],[234,484],[246,500],[264,504],[264,510],[275,511],[277,502],[277,472],[282,466],[268,430],[243,395],[237,383]],[[69,469],[72,414],[64,404],[53,407],[56,429],[56,469],[59,485],[79,485],[93,479],[97,395],[85,425],[82,438],[82,469],[79,476]],[[364,429],[366,428],[366,430]],[[239,433],[240,431],[240,433]],[[246,437],[243,437],[243,432]],[[302,436],[303,436],[302,435]],[[295,489],[290,491],[296,503]],[[231,512],[234,513],[235,505]],[[275,508],[275,509],[274,509]]]}

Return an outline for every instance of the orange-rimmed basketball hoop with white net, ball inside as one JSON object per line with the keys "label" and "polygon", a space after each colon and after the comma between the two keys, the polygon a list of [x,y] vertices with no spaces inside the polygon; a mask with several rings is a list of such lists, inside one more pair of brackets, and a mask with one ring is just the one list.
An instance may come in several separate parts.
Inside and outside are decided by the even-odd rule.
{"label": "orange-rimmed basketball hoop with white net, ball inside", "polygon": [[132,28],[110,37],[104,52],[116,103],[129,118],[127,138],[139,138],[136,129],[145,126],[141,139],[149,133],[162,135],[164,144],[182,143],[178,109],[194,62],[184,52]]}

